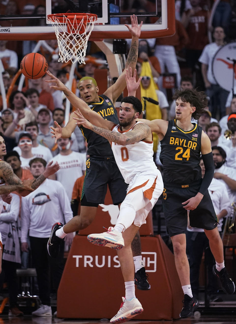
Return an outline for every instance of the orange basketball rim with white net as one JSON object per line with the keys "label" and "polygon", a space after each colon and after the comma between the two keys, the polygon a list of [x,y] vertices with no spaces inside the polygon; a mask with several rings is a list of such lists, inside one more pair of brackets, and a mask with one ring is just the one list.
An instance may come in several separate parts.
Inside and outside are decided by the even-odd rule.
{"label": "orange basketball rim with white net", "polygon": [[59,47],[59,62],[77,60],[85,64],[84,58],[89,36],[93,30],[97,15],[65,13],[48,15],[56,33]]}

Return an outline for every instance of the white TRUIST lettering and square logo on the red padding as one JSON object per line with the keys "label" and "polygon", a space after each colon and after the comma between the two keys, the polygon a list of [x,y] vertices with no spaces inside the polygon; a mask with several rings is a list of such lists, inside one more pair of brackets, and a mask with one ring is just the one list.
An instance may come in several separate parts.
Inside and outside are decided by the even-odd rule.
{"label": "white TRUIST lettering and square logo on the red padding", "polygon": [[[142,252],[146,272],[156,272],[156,252]],[[119,268],[118,256],[111,255],[72,255],[76,268]]]}

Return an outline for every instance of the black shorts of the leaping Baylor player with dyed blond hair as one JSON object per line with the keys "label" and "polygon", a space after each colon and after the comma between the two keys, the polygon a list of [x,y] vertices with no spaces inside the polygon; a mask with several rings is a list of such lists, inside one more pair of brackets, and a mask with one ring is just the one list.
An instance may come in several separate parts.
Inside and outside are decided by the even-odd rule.
{"label": "black shorts of the leaping Baylor player with dyed blond hair", "polygon": [[114,157],[100,157],[100,159],[90,157],[87,159],[81,206],[97,207],[98,204],[104,203],[107,185],[113,204],[122,203],[127,193],[128,184],[125,183]]}

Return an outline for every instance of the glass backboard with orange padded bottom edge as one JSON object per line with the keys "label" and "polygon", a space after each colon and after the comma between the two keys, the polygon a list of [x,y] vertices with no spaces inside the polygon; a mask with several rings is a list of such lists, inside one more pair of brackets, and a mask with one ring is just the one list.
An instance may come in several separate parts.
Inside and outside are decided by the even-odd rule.
{"label": "glass backboard with orange padded bottom edge", "polygon": [[[53,13],[90,12],[98,16],[91,39],[130,38],[124,24],[130,15],[143,20],[141,38],[157,38],[175,33],[175,1],[147,0],[140,7],[130,9],[124,0],[2,0],[0,9],[0,40],[55,39],[55,32],[47,15]],[[135,4],[135,1],[132,2]]]}

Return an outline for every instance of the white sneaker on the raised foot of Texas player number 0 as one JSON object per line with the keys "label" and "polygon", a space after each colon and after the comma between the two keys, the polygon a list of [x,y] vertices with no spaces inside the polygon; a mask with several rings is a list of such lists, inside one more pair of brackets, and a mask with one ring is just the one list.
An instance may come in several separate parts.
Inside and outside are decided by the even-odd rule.
{"label": "white sneaker on the raised foot of Texas player number 0", "polygon": [[108,246],[111,249],[120,250],[125,246],[122,233],[115,231],[111,226],[108,228],[108,232],[90,234],[87,238],[95,245]]}

